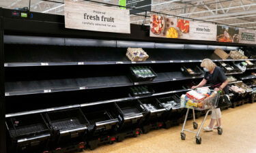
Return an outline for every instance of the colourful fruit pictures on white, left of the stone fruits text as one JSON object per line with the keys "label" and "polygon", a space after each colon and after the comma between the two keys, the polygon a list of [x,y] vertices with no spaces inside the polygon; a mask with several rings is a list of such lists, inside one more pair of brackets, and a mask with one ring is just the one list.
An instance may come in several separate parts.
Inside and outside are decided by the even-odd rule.
{"label": "colourful fruit pictures on white, left of the stone fruits text", "polygon": [[189,20],[152,15],[150,36],[189,39]]}

